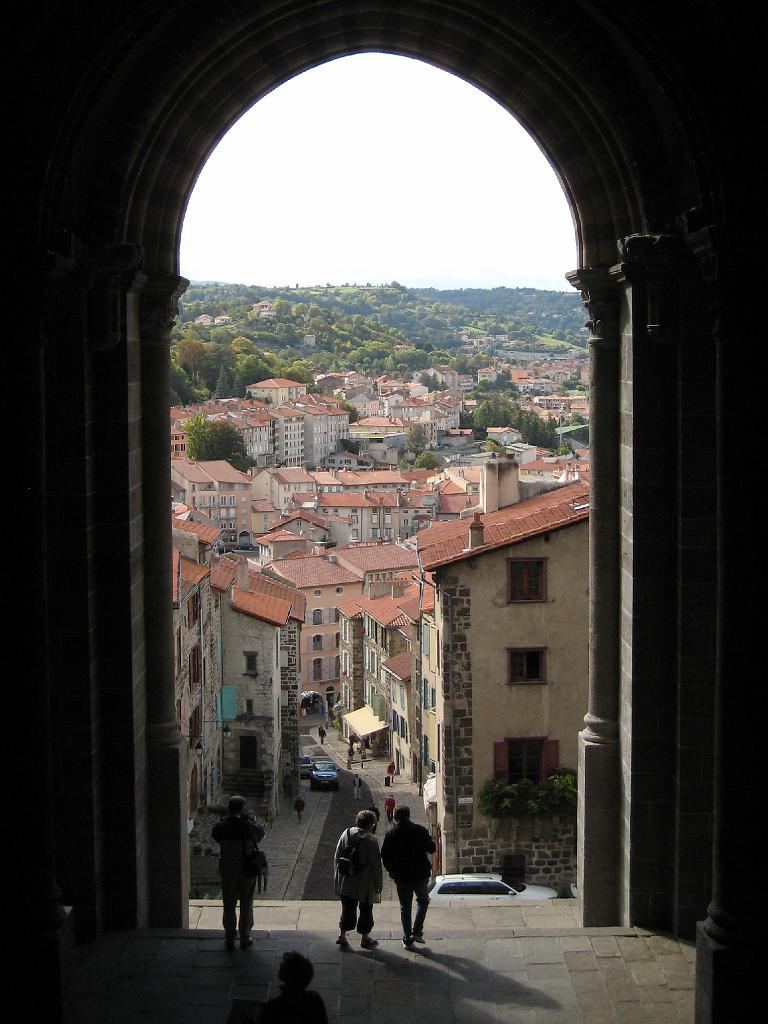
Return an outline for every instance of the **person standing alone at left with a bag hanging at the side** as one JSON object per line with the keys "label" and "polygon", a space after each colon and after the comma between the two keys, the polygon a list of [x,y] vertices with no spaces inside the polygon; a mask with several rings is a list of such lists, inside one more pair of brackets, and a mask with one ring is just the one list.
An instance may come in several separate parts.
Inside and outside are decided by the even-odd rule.
{"label": "person standing alone at left with a bag hanging at the side", "polygon": [[[234,949],[234,939],[240,932],[240,948],[246,949],[253,944],[251,929],[256,854],[261,853],[258,846],[264,838],[264,829],[249,817],[243,797],[230,797],[227,815],[216,822],[211,836],[219,845],[224,944],[227,949]],[[239,902],[240,920],[237,912]]]}

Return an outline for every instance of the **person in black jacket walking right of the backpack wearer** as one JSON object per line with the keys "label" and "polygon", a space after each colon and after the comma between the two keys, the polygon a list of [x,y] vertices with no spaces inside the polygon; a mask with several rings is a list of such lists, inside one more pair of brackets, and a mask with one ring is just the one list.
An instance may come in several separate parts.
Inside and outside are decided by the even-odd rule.
{"label": "person in black jacket walking right of the backpack wearer", "polygon": [[[427,829],[411,820],[411,808],[404,804],[395,807],[394,821],[394,828],[384,837],[381,855],[397,889],[402,945],[411,949],[414,942],[424,942],[424,920],[429,907],[427,889],[432,873],[429,854],[434,853],[435,845]],[[414,896],[417,911],[412,925]]]}

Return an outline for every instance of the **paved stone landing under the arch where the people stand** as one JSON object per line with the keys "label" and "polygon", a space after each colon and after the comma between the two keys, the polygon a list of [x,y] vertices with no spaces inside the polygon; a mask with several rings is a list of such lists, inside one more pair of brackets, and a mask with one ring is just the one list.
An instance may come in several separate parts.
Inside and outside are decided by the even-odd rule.
{"label": "paved stone landing under the arch where the people stand", "polygon": [[288,949],[314,964],[331,1024],[666,1024],[693,1019],[693,948],[639,929],[578,929],[574,901],[432,908],[428,942],[399,941],[397,904],[376,908],[374,951],[335,944],[338,904],[262,901],[254,944],[226,952],[221,905],[185,931],[110,935],[67,954],[69,1024],[224,1024],[233,999],[279,991]]}

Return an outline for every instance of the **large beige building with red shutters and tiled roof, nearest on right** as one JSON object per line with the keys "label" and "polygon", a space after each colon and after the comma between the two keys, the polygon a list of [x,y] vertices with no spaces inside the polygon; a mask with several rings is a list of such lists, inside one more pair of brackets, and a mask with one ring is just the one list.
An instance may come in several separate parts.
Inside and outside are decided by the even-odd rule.
{"label": "large beige building with red shutters and tiled roof, nearest on right", "polygon": [[434,585],[421,682],[435,735],[429,742],[423,726],[421,753],[435,774],[445,871],[501,870],[519,852],[479,810],[488,779],[541,782],[575,768],[587,709],[588,520],[588,488],[577,483],[419,535]]}

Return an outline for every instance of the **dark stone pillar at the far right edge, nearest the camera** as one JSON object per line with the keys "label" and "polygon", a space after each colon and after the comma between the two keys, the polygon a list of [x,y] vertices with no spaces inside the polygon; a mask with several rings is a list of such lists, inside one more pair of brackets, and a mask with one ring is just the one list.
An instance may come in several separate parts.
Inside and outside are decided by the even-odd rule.
{"label": "dark stone pillar at the far right edge, nearest the camera", "polygon": [[[745,239],[729,239],[714,227],[689,234],[715,290],[717,351],[717,626],[715,685],[714,828],[712,900],[696,934],[696,1024],[751,1020],[759,1006],[758,929],[755,889],[744,872],[755,854],[755,818],[760,806],[763,759],[760,736],[750,726],[750,700],[764,675],[759,639],[764,628],[759,593],[749,584],[750,554],[762,548],[759,521],[742,486],[729,473],[732,453],[746,436],[738,353],[750,336],[753,306],[745,301],[743,268],[750,265]],[[757,412],[753,413],[757,419]],[[757,424],[756,424],[757,427]],[[749,545],[749,546],[748,546]],[[750,686],[750,682],[753,683]],[[745,688],[746,684],[746,688]],[[759,728],[759,726],[758,726]],[[754,796],[748,796],[754,787]],[[754,803],[752,802],[754,800]],[[745,806],[746,805],[746,808]],[[759,872],[758,872],[759,873]],[[758,882],[759,888],[759,882]]]}

